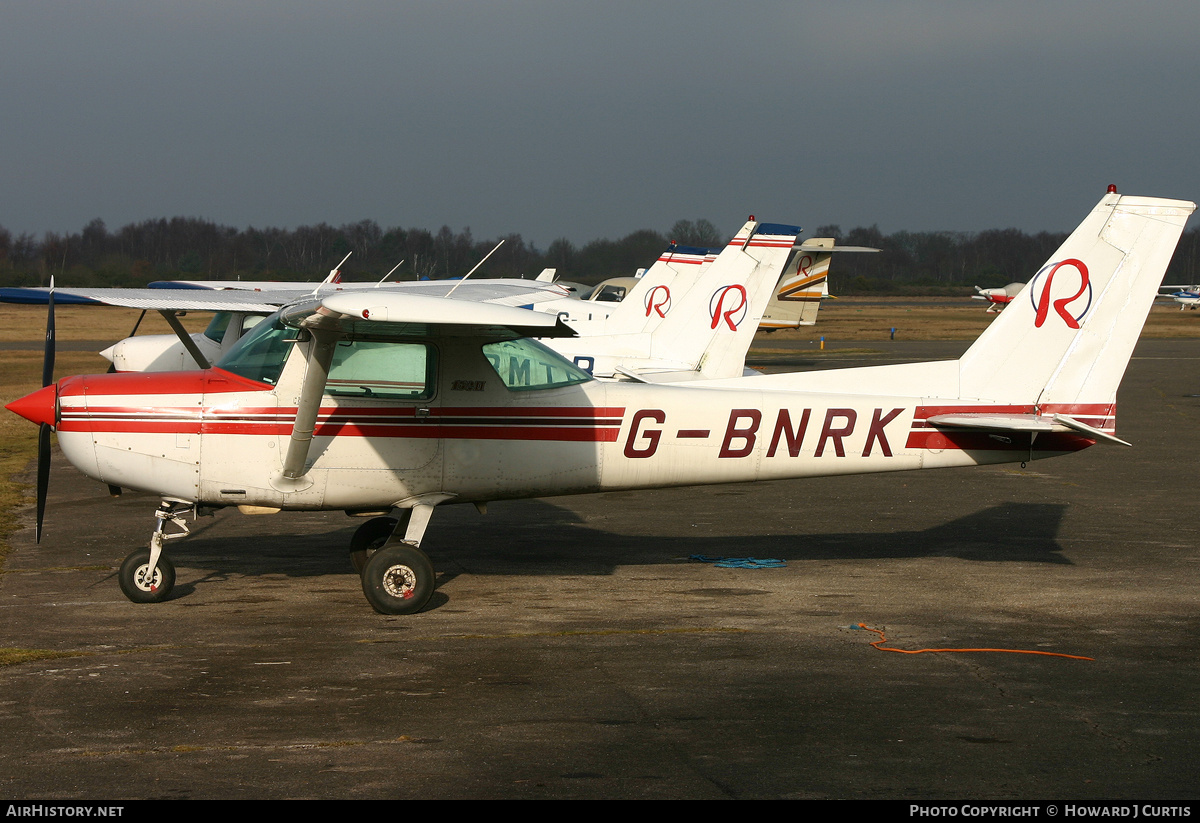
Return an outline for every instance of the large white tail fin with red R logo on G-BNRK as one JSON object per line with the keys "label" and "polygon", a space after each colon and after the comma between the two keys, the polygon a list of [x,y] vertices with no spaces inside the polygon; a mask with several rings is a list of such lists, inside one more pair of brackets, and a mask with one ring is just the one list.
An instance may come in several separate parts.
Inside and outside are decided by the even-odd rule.
{"label": "large white tail fin with red R logo on G-BNRK", "polygon": [[959,360],[959,397],[1110,419],[1193,210],[1110,188]]}

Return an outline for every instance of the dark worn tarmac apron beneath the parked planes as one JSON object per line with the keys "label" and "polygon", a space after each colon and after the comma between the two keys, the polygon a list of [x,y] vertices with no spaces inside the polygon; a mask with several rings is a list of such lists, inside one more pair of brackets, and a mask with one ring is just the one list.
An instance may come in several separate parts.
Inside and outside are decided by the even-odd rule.
{"label": "dark worn tarmac apron beneath the parked planes", "polygon": [[[966,344],[766,346],[802,370]],[[1198,798],[1194,392],[1200,341],[1147,341],[1133,449],[446,506],[413,617],[371,611],[340,512],[203,518],[172,599],[133,605],[156,499],[60,459],[0,576],[0,647],[61,655],[0,666],[0,795]],[[858,623],[1094,660],[886,654]]]}

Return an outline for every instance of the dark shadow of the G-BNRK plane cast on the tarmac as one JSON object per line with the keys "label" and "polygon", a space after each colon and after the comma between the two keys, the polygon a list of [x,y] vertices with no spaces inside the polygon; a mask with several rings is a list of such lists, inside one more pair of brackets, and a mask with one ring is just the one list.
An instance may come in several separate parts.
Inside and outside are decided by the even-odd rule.
{"label": "dark shadow of the G-BNRK plane cast on the tarmac", "polygon": [[[439,570],[439,584],[460,573],[611,575],[619,566],[688,563],[692,554],[788,563],[952,557],[980,563],[1069,564],[1057,542],[1064,510],[1058,504],[1008,503],[906,531],[661,536],[614,534],[584,523],[569,509],[522,500],[493,506],[486,517],[470,506],[448,506],[438,512],[442,519],[434,519],[424,548]],[[209,572],[194,583],[181,581],[175,596],[232,577],[353,573],[347,552],[358,521],[332,530],[322,522],[308,533],[296,533],[286,521],[260,519],[264,525],[271,522],[282,528],[278,533],[233,535],[222,523],[202,519],[191,537],[170,546],[176,566]]]}

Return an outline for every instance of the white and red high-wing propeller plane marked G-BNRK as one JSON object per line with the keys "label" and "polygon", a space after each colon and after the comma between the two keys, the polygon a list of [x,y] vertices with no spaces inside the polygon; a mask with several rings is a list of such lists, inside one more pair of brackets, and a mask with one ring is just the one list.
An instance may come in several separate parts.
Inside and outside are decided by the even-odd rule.
{"label": "white and red high-wing propeller plane marked G-BNRK", "polygon": [[953,361],[601,382],[529,340],[571,334],[554,316],[346,292],[284,307],[215,368],[71,377],[8,408],[54,426],[88,476],[162,495],[149,549],[121,567],[131,600],[169,595],[164,525],[188,511],[342,509],[378,512],[352,541],[367,600],[413,613],[434,588],[420,545],[445,503],[1024,462],[1123,443],[1117,386],[1194,209],[1110,190]]}

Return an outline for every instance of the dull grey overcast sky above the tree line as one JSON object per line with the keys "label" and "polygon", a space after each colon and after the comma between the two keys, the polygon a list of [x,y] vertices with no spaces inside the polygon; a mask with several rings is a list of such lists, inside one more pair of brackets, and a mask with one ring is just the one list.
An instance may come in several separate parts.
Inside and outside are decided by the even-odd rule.
{"label": "dull grey overcast sky above the tree line", "polygon": [[0,226],[1067,230],[1200,198],[1198,55],[1195,0],[2,0]]}

